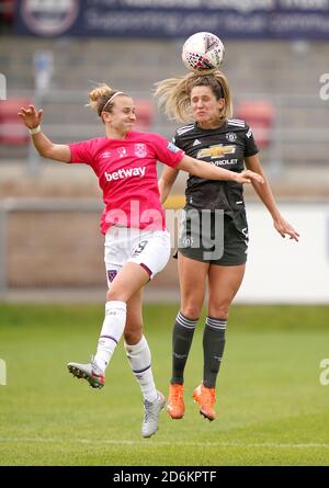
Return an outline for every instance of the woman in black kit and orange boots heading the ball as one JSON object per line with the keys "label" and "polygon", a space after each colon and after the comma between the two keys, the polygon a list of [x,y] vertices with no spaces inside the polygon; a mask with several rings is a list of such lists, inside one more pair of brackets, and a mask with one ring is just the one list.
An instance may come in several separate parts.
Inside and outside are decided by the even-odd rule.
{"label": "woman in black kit and orange boots heading the ball", "polygon": [[[231,118],[231,94],[223,72],[215,70],[208,76],[190,72],[167,79],[157,83],[156,94],[171,120],[188,123],[177,129],[175,146],[209,167],[223,167],[239,174],[246,164],[262,175],[264,184],[252,180],[254,191],[269,209],[279,234],[297,241],[299,235],[276,206],[250,127],[243,121]],[[178,172],[179,168],[163,169],[159,181],[162,202]],[[167,409],[172,419],[184,416],[184,368],[208,282],[203,381],[193,398],[200,412],[214,420],[215,386],[224,354],[228,311],[245,274],[248,224],[242,185],[235,181],[211,181],[191,174],[185,196],[178,252],[181,307],[172,331],[172,376]]]}

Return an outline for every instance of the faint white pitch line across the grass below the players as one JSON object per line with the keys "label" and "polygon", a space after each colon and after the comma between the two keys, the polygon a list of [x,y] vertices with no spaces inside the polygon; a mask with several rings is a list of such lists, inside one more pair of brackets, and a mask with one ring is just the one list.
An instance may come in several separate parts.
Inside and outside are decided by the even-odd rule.
{"label": "faint white pitch line across the grass below the players", "polygon": [[254,443],[243,443],[243,442],[184,442],[184,441],[151,441],[148,444],[147,440],[140,441],[115,441],[115,440],[90,440],[90,439],[72,439],[72,440],[64,440],[64,439],[45,439],[45,438],[0,438],[0,442],[31,442],[31,443],[44,443],[44,444],[93,444],[93,445],[149,445],[155,447],[155,445],[188,445],[195,447],[205,447],[205,446],[216,446],[216,447],[268,447],[268,449],[329,449],[329,444],[327,443],[275,443],[275,442],[254,442]]}

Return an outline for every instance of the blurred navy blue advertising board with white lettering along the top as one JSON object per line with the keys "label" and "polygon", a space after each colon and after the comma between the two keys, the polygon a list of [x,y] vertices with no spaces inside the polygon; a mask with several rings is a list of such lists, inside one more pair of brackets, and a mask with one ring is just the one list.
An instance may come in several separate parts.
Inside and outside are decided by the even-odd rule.
{"label": "blurred navy blue advertising board with white lettering along the top", "polygon": [[20,0],[15,33],[56,37],[329,38],[329,0]]}

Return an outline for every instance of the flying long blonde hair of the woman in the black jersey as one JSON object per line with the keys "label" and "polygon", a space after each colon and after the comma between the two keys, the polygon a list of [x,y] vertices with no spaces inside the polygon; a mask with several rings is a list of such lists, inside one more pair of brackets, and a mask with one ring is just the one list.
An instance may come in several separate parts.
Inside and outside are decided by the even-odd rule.
{"label": "flying long blonde hair of the woman in the black jersey", "polygon": [[209,87],[216,100],[224,99],[225,106],[220,118],[232,116],[232,100],[226,76],[219,71],[209,75],[189,72],[183,77],[168,78],[156,83],[155,95],[159,98],[158,104],[167,116],[178,122],[191,122],[191,91],[194,87]]}

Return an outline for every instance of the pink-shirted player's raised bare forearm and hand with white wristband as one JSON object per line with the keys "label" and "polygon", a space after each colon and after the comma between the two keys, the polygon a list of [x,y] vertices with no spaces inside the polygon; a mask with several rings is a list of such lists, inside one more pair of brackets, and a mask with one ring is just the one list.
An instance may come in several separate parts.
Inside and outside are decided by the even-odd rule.
{"label": "pink-shirted player's raised bare forearm and hand with white wristband", "polygon": [[52,143],[52,140],[42,132],[39,126],[43,116],[42,110],[37,111],[34,105],[29,105],[27,109],[22,106],[18,115],[30,130],[34,147],[43,158],[70,162],[71,151],[69,146]]}

